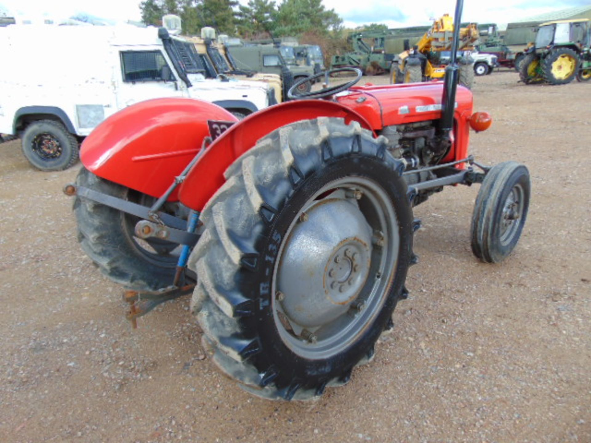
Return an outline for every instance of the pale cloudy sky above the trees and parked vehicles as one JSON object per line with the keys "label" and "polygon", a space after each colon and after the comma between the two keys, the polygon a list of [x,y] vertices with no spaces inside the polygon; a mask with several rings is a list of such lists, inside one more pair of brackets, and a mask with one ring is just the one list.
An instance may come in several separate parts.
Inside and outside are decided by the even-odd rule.
{"label": "pale cloudy sky above the trees and parked vehicles", "polygon": [[[246,4],[248,0],[241,0]],[[20,17],[38,20],[43,17],[63,19],[76,14],[90,14],[115,21],[139,21],[140,0],[0,0],[2,9]],[[346,27],[383,23],[388,27],[430,25],[430,18],[453,15],[454,0],[414,2],[371,0],[323,0],[325,8],[334,8]],[[465,0],[463,21],[506,24],[532,15],[564,8],[589,5],[589,0]],[[4,6],[4,8],[2,8]]]}

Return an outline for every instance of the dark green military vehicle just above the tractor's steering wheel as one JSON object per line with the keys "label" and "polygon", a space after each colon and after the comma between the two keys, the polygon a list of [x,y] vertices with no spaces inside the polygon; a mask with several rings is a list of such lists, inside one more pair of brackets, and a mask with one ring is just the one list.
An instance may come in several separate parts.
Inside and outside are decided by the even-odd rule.
{"label": "dark green military vehicle just above the tractor's steering wheel", "polygon": [[[294,82],[298,82],[314,74],[313,66],[301,66],[296,63],[293,46],[253,45],[232,46],[228,49],[239,69],[280,74],[284,84],[290,83],[286,82],[286,77],[291,77]],[[298,87],[298,92],[310,92],[311,88],[310,82],[304,82]]]}

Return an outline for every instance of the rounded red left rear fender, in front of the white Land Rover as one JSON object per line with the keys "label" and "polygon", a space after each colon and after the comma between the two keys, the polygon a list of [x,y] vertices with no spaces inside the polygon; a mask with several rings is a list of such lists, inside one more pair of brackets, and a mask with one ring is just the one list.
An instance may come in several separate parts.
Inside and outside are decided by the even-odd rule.
{"label": "rounded red left rear fender, in front of the white Land Rover", "polygon": [[[202,100],[146,100],[100,123],[83,142],[80,159],[99,177],[160,197],[201,149],[207,120],[238,121]],[[177,192],[169,200],[177,200]]]}

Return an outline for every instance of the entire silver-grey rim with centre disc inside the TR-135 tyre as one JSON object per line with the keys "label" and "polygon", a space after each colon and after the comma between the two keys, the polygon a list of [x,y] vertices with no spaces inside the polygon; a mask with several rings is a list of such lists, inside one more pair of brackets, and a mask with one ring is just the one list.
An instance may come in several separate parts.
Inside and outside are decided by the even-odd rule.
{"label": "entire silver-grey rim with centre disc inside the TR-135 tyre", "polygon": [[275,266],[283,343],[311,360],[355,343],[384,305],[398,249],[397,217],[378,184],[347,177],[324,186],[291,223]]}

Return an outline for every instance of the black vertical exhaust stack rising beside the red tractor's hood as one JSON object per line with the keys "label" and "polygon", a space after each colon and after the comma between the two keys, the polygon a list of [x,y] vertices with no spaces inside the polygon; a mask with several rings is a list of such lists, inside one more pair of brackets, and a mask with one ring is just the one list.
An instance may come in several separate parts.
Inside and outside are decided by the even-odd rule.
{"label": "black vertical exhaust stack rising beside the red tractor's hood", "polygon": [[456,89],[459,76],[457,66],[457,50],[460,41],[460,23],[462,22],[463,0],[456,1],[456,15],[453,18],[452,54],[443,77],[443,97],[441,99],[441,120],[437,128],[437,138],[441,148],[449,148],[451,144],[450,131],[453,129],[453,112],[456,105]]}

